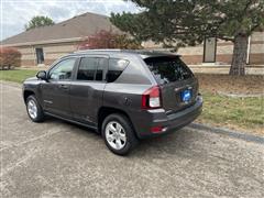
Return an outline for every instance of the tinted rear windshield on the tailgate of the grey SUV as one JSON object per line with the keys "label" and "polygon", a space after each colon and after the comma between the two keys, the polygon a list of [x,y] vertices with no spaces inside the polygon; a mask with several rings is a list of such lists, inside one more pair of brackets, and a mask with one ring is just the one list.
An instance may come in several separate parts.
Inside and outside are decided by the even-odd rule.
{"label": "tinted rear windshield on the tailgate of the grey SUV", "polygon": [[144,62],[160,85],[185,80],[194,76],[178,56],[151,57]]}

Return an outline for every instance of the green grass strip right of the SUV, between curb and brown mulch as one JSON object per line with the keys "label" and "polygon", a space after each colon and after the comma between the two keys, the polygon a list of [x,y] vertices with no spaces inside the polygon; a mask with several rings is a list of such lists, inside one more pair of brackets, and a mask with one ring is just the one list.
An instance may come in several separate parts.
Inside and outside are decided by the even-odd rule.
{"label": "green grass strip right of the SUV, between curb and brown mulch", "polygon": [[263,97],[230,98],[201,92],[204,111],[198,122],[264,135]]}

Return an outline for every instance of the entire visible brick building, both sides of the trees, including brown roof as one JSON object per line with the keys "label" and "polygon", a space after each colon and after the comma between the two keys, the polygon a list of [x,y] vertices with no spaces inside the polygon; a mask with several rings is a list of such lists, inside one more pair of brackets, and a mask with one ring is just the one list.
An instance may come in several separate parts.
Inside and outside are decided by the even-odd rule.
{"label": "entire visible brick building, both sides of the trees, including brown roof", "polygon": [[[111,24],[106,15],[84,13],[52,26],[25,31],[1,42],[22,53],[22,66],[50,65],[55,59],[77,50],[78,44],[101,30],[122,33]],[[150,50],[161,50],[162,45],[143,42]],[[248,64],[264,65],[264,32],[254,32],[249,40]],[[189,65],[230,65],[233,53],[231,42],[207,38],[204,44],[179,48],[178,54]]]}

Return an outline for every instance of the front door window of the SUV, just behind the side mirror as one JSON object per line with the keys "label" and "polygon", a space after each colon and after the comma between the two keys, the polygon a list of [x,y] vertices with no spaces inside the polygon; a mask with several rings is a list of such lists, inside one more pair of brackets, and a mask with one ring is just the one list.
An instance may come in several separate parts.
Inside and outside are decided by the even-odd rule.
{"label": "front door window of the SUV, just behind the side mirror", "polygon": [[54,80],[70,79],[76,58],[68,58],[59,62],[48,73],[48,78]]}

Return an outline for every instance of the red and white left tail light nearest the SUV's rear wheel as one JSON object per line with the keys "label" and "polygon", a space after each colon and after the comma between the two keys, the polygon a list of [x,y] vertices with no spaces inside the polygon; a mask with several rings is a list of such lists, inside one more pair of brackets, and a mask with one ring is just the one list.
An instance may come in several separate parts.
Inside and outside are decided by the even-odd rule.
{"label": "red and white left tail light nearest the SUV's rear wheel", "polygon": [[158,86],[147,89],[142,95],[142,109],[156,109],[162,107],[161,89]]}

